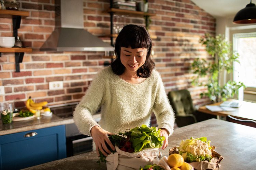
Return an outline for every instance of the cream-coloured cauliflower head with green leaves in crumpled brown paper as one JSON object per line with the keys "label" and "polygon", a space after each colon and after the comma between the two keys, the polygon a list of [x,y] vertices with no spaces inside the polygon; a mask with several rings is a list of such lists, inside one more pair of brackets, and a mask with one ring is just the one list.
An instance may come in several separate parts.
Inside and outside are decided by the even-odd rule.
{"label": "cream-coloured cauliflower head with green leaves in crumpled brown paper", "polygon": [[182,155],[185,162],[200,162],[203,160],[210,161],[212,151],[211,141],[207,141],[206,137],[182,140],[179,147],[179,154]]}

